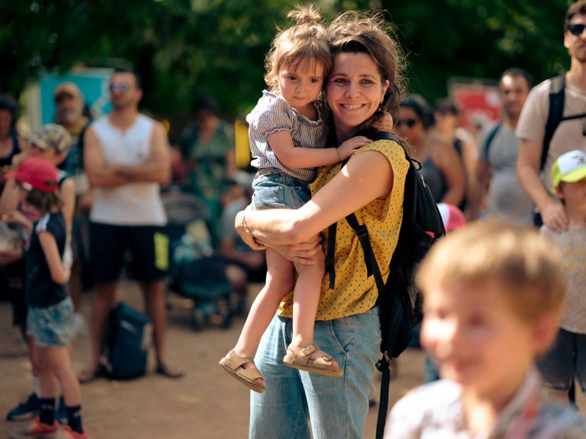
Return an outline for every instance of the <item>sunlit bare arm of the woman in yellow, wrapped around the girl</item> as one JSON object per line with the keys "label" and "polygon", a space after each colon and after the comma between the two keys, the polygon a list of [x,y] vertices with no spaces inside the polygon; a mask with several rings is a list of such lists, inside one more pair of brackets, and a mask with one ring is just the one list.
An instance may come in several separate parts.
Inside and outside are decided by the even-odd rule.
{"label": "sunlit bare arm of the woman in yellow, wrapped around the girl", "polygon": [[330,224],[393,189],[393,168],[376,151],[353,156],[338,175],[297,210],[274,209],[239,212],[236,229],[244,242],[251,236],[264,243],[292,244],[309,241]]}

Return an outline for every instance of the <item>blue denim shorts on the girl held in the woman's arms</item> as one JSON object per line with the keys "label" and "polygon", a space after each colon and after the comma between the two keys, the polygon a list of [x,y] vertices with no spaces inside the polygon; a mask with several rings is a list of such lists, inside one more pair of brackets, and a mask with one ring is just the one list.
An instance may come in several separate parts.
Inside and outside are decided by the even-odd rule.
{"label": "blue denim shorts on the girl held in the woman's arms", "polygon": [[253,210],[298,209],[311,199],[307,183],[277,168],[260,169],[253,181]]}

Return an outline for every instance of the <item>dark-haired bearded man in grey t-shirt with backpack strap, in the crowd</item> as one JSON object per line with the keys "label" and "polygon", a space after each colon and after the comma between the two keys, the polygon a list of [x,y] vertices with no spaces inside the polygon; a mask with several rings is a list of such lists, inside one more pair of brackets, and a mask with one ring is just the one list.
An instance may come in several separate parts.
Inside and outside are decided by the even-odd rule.
{"label": "dark-haired bearded man in grey t-shirt with backpack strap, in the crowd", "polygon": [[520,68],[509,68],[500,76],[503,114],[502,119],[490,125],[481,137],[470,206],[472,219],[479,217],[483,200],[486,200],[483,216],[500,217],[517,225],[533,222],[533,203],[519,185],[515,170],[519,153],[515,128],[531,87],[529,73]]}

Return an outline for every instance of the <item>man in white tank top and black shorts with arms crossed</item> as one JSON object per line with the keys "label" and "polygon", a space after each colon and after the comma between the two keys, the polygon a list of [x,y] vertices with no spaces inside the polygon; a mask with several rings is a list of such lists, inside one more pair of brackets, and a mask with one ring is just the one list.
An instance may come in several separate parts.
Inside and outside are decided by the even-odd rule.
{"label": "man in white tank top and black shorts with arms crossed", "polygon": [[110,80],[112,112],[87,129],[84,165],[94,188],[90,252],[96,297],[91,322],[92,359],[81,382],[96,377],[105,324],[114,304],[124,253],[141,283],[154,327],[157,372],[176,378],[182,372],[165,361],[165,274],[169,239],[159,186],[171,180],[165,128],[138,112],[142,90],[134,71],[117,69]]}

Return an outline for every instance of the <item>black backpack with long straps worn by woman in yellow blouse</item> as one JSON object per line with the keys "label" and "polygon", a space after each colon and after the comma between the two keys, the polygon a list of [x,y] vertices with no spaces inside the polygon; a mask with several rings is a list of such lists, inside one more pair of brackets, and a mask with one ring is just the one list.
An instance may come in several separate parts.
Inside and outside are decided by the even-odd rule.
{"label": "black backpack with long straps worn by woman in yellow blouse", "polygon": [[[376,426],[377,439],[383,437],[384,424],[389,408],[389,365],[391,358],[397,358],[411,341],[411,329],[423,318],[423,301],[421,293],[414,285],[414,275],[424,256],[438,238],[445,235],[444,223],[440,211],[431,196],[430,189],[425,185],[409,157],[401,140],[386,132],[379,132],[373,140],[393,140],[403,148],[405,157],[410,163],[405,177],[403,222],[399,232],[397,247],[389,265],[387,283],[383,282],[379,265],[374,258],[370,245],[369,232],[365,225],[359,224],[356,216],[350,214],[346,221],[354,229],[364,251],[367,276],[374,276],[379,297],[381,327],[381,358],[376,368],[382,372],[380,387],[379,418]],[[347,160],[342,163],[342,167]],[[326,273],[329,275],[330,288],[335,284],[333,257],[335,253],[336,224],[328,229],[328,249],[326,256]],[[382,293],[381,293],[382,291]]]}

